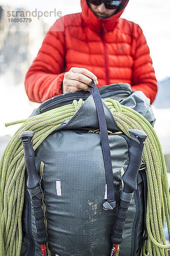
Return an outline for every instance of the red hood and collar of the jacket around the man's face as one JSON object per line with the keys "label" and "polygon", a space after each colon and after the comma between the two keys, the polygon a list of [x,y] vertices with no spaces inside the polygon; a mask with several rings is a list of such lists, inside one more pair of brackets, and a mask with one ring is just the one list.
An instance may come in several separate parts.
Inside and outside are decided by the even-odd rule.
{"label": "red hood and collar of the jacket around the man's face", "polygon": [[82,7],[82,17],[87,26],[89,26],[91,29],[93,29],[96,32],[101,32],[101,29],[103,28],[105,32],[109,32],[114,29],[116,26],[119,17],[122,15],[122,13],[125,10],[125,7],[127,6],[127,3],[129,0],[122,0],[122,4],[119,7],[119,11],[107,18],[107,19],[98,19],[96,15],[91,11],[91,9],[88,7],[88,4],[86,0],[81,0],[81,7]]}

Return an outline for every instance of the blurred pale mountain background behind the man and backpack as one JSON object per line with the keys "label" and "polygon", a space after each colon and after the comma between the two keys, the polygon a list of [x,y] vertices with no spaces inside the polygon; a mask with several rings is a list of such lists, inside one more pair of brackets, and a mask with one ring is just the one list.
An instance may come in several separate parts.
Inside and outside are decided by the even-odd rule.
{"label": "blurred pale mountain background behind the man and backpack", "polygon": [[[26,12],[27,22],[14,20]],[[38,107],[28,100],[24,79],[46,32],[57,18],[75,12],[81,12],[80,0],[0,0],[0,156],[18,128],[5,123]],[[154,128],[170,172],[170,1],[130,0],[122,17],[142,27],[150,48],[159,85]]]}

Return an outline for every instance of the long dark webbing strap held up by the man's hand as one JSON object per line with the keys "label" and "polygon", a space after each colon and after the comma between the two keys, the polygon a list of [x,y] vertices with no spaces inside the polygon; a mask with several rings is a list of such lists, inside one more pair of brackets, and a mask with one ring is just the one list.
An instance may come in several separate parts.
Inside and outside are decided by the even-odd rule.
{"label": "long dark webbing strap held up by the man's hand", "polygon": [[102,153],[105,165],[106,183],[107,183],[107,198],[108,200],[103,204],[103,209],[113,209],[116,207],[114,199],[114,185],[113,185],[113,170],[111,163],[111,151],[108,139],[108,129],[106,125],[105,112],[102,104],[102,99],[94,81],[94,87],[88,87],[96,105],[97,116],[99,119],[99,128],[101,133]]}

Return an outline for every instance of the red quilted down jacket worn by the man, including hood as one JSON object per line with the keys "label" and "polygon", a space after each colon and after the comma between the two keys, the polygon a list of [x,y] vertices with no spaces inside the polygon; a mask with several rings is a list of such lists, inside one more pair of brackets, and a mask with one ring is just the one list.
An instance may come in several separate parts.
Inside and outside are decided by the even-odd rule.
{"label": "red quilted down jacket worn by the man, including hood", "polygon": [[94,15],[86,0],[81,0],[81,13],[59,18],[26,75],[28,98],[43,102],[61,94],[65,72],[83,67],[96,75],[98,86],[126,82],[152,103],[157,82],[142,29],[120,18],[127,2],[123,0],[122,11],[105,20]]}

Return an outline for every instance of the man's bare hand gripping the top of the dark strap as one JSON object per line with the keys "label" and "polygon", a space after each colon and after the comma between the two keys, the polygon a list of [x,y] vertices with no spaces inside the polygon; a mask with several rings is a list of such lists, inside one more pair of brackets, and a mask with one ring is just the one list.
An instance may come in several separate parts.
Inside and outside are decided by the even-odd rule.
{"label": "man's bare hand gripping the top of the dark strap", "polygon": [[88,85],[93,87],[93,81],[91,79],[94,79],[97,84],[99,83],[91,71],[85,68],[71,67],[64,75],[62,92],[71,93],[78,90],[88,90]]}

